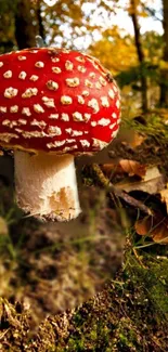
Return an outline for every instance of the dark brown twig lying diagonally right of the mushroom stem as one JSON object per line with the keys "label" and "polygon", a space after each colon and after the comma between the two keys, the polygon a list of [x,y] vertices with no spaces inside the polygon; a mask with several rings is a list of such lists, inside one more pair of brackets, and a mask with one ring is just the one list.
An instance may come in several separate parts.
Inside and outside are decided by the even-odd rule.
{"label": "dark brown twig lying diagonally right of the mushroom stem", "polygon": [[147,216],[153,216],[152,210],[148,207],[146,207],[142,201],[134,199],[133,197],[128,195],[125,191],[121,191],[121,190],[118,190],[117,187],[115,187],[115,185],[104,175],[104,173],[101,170],[99,165],[93,164],[91,166],[91,168],[92,168],[93,173],[96,175],[98,183],[101,186],[104,186],[105,188],[107,188],[109,196],[112,198],[115,195],[116,197],[124,199],[130,206],[142,210]]}

